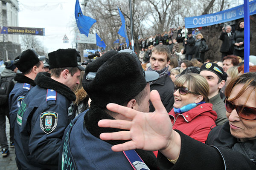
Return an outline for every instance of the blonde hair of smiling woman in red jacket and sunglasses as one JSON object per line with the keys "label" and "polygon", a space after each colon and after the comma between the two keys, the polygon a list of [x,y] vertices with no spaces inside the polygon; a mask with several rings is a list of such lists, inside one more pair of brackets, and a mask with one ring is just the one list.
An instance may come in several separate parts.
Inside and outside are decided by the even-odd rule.
{"label": "blonde hair of smiling woman in red jacket and sunglasses", "polygon": [[209,85],[203,76],[195,73],[189,73],[181,75],[174,82],[175,86],[179,87],[183,86],[185,83],[187,84],[189,91],[202,95],[204,97],[202,101],[209,102]]}

